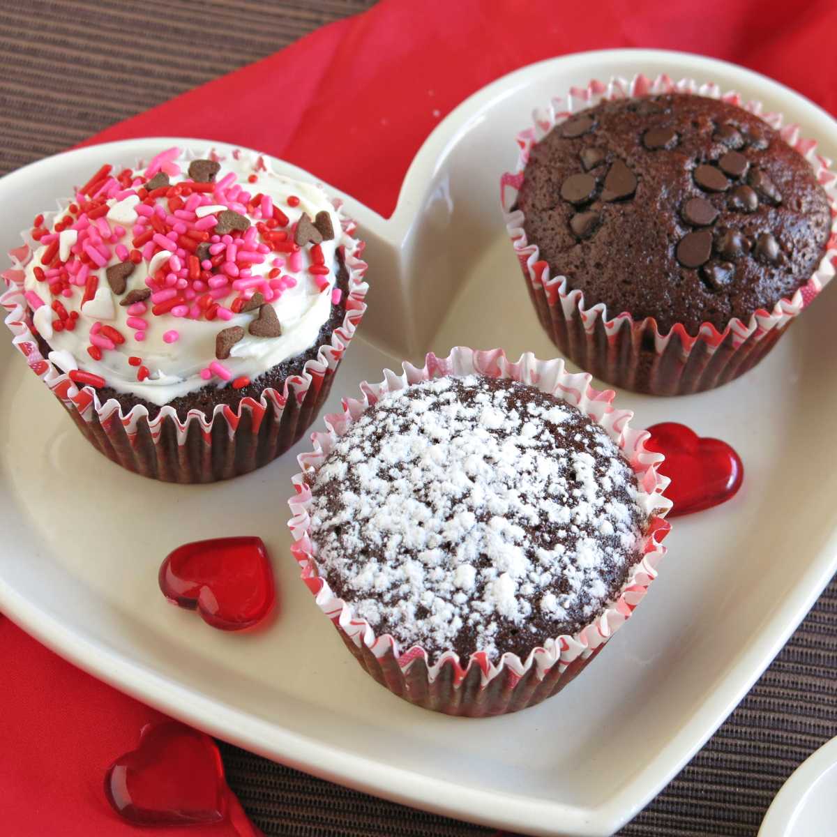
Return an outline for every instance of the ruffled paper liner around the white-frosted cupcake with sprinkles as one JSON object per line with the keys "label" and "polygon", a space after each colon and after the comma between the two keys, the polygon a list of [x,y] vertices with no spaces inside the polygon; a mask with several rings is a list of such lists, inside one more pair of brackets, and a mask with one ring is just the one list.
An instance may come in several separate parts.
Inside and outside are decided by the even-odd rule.
{"label": "ruffled paper liner around the white-frosted cupcake with sprinkles", "polygon": [[31,312],[23,297],[25,269],[35,249],[28,234],[23,234],[23,246],[9,254],[12,270],[0,274],[8,289],[0,296],[0,305],[9,312],[5,322],[13,346],[59,399],[85,439],[123,468],[178,483],[216,482],[247,474],[285,453],[314,422],[366,311],[367,264],[360,258],[364,244],[352,237],[357,225],[341,214],[342,202],[332,203],[340,218],[338,247],[348,272],[346,314],[331,332],[331,342],[318,348],[316,358],[306,362],[300,374],[285,378],[281,391],[266,388],[258,401],[242,398],[235,409],[219,403],[210,419],[202,410],[190,409],[185,421],[169,406],[149,419],[141,404],[123,413],[116,398],[100,403],[95,388],[78,388],[43,357],[31,331]]}

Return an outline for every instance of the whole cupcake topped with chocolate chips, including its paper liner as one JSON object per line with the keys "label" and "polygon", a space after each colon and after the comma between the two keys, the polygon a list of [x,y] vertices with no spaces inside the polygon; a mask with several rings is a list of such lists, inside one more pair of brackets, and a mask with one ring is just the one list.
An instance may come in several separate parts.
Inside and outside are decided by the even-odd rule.
{"label": "whole cupcake topped with chocolate chips, including its paper liner", "polygon": [[833,275],[832,178],[810,142],[732,95],[639,77],[593,100],[524,135],[503,181],[542,326],[624,388],[727,383]]}

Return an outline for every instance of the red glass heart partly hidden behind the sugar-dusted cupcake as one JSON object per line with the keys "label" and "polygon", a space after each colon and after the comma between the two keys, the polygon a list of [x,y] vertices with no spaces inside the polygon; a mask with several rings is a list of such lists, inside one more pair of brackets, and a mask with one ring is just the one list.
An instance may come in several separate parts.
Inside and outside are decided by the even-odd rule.
{"label": "red glass heart partly hidden behind the sugar-dusted cupcake", "polygon": [[685,424],[663,422],[648,429],[645,447],[665,455],[660,474],[670,477],[665,496],[674,507],[669,516],[688,515],[726,502],[741,488],[741,457],[721,439],[698,436]]}

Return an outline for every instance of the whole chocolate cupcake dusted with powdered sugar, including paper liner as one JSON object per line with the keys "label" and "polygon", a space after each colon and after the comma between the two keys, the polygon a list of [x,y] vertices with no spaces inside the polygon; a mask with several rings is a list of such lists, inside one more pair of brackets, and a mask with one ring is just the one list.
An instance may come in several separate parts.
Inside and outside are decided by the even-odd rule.
{"label": "whole chocolate cupcake dusted with powdered sugar, including paper liner", "polygon": [[655,577],[661,457],[562,361],[455,349],[406,368],[300,456],[303,578],[398,696],[452,715],[532,706]]}

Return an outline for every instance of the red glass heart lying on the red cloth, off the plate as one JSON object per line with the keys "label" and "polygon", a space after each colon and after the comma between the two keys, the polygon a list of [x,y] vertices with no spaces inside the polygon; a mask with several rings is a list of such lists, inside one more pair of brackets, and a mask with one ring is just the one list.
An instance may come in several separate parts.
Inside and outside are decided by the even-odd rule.
{"label": "red glass heart lying on the red cloth, off the plate", "polygon": [[105,773],[105,797],[136,825],[219,823],[229,794],[215,742],[178,721],[145,727]]}

